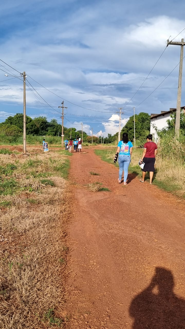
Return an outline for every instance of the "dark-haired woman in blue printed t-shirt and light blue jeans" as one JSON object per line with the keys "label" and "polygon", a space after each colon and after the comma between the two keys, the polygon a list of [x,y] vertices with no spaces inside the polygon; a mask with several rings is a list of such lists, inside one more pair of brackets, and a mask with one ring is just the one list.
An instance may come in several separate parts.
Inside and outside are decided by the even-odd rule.
{"label": "dark-haired woman in blue printed t-shirt and light blue jeans", "polygon": [[114,163],[118,160],[119,163],[119,178],[118,181],[121,183],[122,173],[124,170],[124,179],[123,184],[127,185],[127,176],[128,176],[128,166],[131,161],[131,155],[132,155],[132,143],[128,141],[128,134],[123,133],[122,140],[118,143],[118,148],[116,151],[116,155],[114,158]]}

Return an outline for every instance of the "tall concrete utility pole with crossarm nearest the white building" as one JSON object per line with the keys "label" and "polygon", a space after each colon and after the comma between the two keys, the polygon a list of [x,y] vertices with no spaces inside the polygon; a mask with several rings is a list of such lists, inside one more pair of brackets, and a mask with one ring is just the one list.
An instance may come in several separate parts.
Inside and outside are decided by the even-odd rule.
{"label": "tall concrete utility pole with crossarm nearest the white building", "polygon": [[178,77],[178,91],[177,91],[177,108],[176,108],[176,120],[175,120],[175,135],[179,137],[180,130],[180,105],[181,105],[181,90],[182,90],[182,64],[183,64],[183,47],[185,45],[184,39],[181,42],[172,42],[167,40],[167,47],[169,44],[181,46],[180,48],[180,65],[179,65],[179,77]]}

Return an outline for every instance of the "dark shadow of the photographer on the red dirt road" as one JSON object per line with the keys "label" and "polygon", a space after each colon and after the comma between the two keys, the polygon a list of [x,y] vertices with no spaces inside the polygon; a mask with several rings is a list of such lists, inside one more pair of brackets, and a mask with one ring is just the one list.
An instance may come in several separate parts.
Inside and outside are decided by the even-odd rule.
{"label": "dark shadow of the photographer on the red dirt road", "polygon": [[149,286],[131,302],[133,329],[184,329],[185,300],[173,292],[172,272],[156,267]]}

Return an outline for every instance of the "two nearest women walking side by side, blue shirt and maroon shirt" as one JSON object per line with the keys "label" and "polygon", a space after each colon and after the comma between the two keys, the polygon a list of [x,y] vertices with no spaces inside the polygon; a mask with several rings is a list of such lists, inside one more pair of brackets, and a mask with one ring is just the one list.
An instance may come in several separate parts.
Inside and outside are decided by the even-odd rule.
{"label": "two nearest women walking side by side, blue shirt and maroon shirt", "polygon": [[[142,169],[143,174],[142,178],[140,179],[141,183],[145,181],[146,171],[149,172],[150,175],[150,184],[152,184],[153,173],[155,172],[154,164],[155,164],[155,157],[157,154],[157,145],[152,141],[152,135],[148,135],[146,137],[147,142],[144,144],[144,151],[142,159],[140,160],[140,164],[144,164]],[[118,143],[118,148],[116,151],[116,155],[114,158],[114,163],[119,163],[119,178],[118,182],[121,183],[122,174],[124,171],[123,177],[123,184],[127,185],[127,176],[128,176],[128,167],[131,162],[132,156],[132,142],[128,140],[128,134],[123,133],[122,140]]]}

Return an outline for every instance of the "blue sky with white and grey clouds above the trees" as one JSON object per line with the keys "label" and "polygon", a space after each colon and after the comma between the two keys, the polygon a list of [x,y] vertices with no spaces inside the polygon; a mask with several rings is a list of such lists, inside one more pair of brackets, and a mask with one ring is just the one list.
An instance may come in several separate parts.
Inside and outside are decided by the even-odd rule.
{"label": "blue sky with white and grey clouds above the trees", "polygon": [[[80,129],[83,122],[87,133],[91,134],[93,127],[93,131],[104,136],[114,134],[119,126],[119,107],[124,107],[122,126],[133,114],[133,106],[136,113],[149,114],[176,107],[178,67],[137,106],[178,64],[180,47],[172,45],[126,104],[165,49],[166,40],[185,27],[185,20],[179,19],[179,9],[181,13],[185,11],[183,1],[8,0],[1,4],[0,59],[19,72],[26,71],[71,103],[90,109],[65,101],[65,126]],[[183,37],[185,31],[175,40]],[[0,69],[17,75],[0,64],[5,66]],[[0,81],[6,79],[4,74],[0,70]],[[58,111],[62,99],[30,77],[27,80],[31,85]],[[23,111],[23,83],[10,78],[0,82],[0,121]],[[184,86],[183,80],[182,106]],[[43,106],[31,86],[30,89],[26,90],[27,115],[43,115],[49,121],[56,118],[61,123],[60,114]]]}

